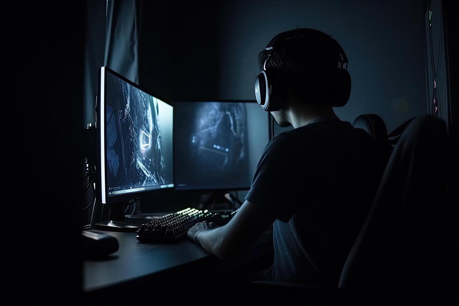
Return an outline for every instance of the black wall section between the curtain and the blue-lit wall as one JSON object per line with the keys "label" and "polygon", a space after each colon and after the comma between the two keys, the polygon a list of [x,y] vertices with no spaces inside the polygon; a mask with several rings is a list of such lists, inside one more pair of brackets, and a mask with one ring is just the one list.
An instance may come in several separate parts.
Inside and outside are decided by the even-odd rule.
{"label": "black wall section between the curtain and the blue-lit wall", "polygon": [[217,1],[142,1],[140,86],[166,101],[218,98]]}

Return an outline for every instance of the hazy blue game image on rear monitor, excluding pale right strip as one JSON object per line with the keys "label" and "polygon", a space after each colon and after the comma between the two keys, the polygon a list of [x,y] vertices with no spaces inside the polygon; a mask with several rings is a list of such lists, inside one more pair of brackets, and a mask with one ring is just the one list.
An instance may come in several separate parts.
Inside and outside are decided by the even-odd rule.
{"label": "hazy blue game image on rear monitor, excluding pale right strip", "polygon": [[[215,187],[235,184],[248,167],[244,103],[192,102],[177,109],[176,128],[182,150],[177,167],[193,177],[176,175],[178,187]],[[180,169],[182,169],[180,168]],[[237,187],[237,186],[235,186]]]}

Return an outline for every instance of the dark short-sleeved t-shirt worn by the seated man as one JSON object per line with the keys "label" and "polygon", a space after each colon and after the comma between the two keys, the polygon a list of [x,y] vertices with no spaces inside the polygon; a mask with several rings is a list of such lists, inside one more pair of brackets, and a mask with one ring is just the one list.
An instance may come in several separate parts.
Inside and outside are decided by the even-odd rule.
{"label": "dark short-sleeved t-shirt worn by the seated man", "polygon": [[390,148],[336,118],[269,142],[246,200],[275,211],[271,279],[338,284]]}

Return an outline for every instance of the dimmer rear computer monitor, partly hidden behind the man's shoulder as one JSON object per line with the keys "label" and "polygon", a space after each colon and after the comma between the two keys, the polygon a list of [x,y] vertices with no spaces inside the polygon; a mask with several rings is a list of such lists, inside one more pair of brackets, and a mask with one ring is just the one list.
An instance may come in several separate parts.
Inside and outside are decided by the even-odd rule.
{"label": "dimmer rear computer monitor, partly hidden behind the man's shoulder", "polygon": [[255,101],[174,103],[177,190],[249,189],[269,142],[269,113]]}

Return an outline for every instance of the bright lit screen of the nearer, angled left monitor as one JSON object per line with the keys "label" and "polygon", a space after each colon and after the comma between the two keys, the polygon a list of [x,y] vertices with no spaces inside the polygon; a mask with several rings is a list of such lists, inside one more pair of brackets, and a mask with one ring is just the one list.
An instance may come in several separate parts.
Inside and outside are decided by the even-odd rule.
{"label": "bright lit screen of the nearer, angled left monitor", "polygon": [[105,88],[106,195],[174,187],[172,106],[109,71]]}

